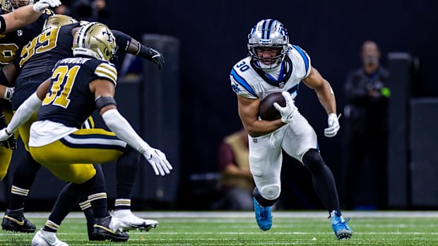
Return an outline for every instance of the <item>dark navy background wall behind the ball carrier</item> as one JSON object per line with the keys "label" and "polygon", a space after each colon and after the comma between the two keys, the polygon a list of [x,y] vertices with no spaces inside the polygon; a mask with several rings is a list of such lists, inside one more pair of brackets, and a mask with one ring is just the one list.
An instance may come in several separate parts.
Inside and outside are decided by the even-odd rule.
{"label": "dark navy background wall behind the ball carrier", "polygon": [[[182,180],[190,173],[217,171],[216,150],[225,135],[240,128],[237,99],[230,88],[230,68],[247,55],[247,34],[261,18],[276,18],[288,28],[291,42],[306,50],[331,82],[344,106],[343,82],[360,66],[359,50],[367,39],[386,54],[406,51],[421,62],[418,97],[437,97],[434,58],[438,55],[435,1],[121,1],[107,0],[112,28],[141,39],[144,33],[171,35],[181,41]],[[326,114],[304,85],[300,111],[319,136],[321,154],[338,173],[341,132],[324,137]],[[165,149],[164,149],[165,151]],[[302,170],[299,170],[302,171]],[[288,176],[286,176],[288,177]],[[307,189],[312,190],[310,183]]]}

